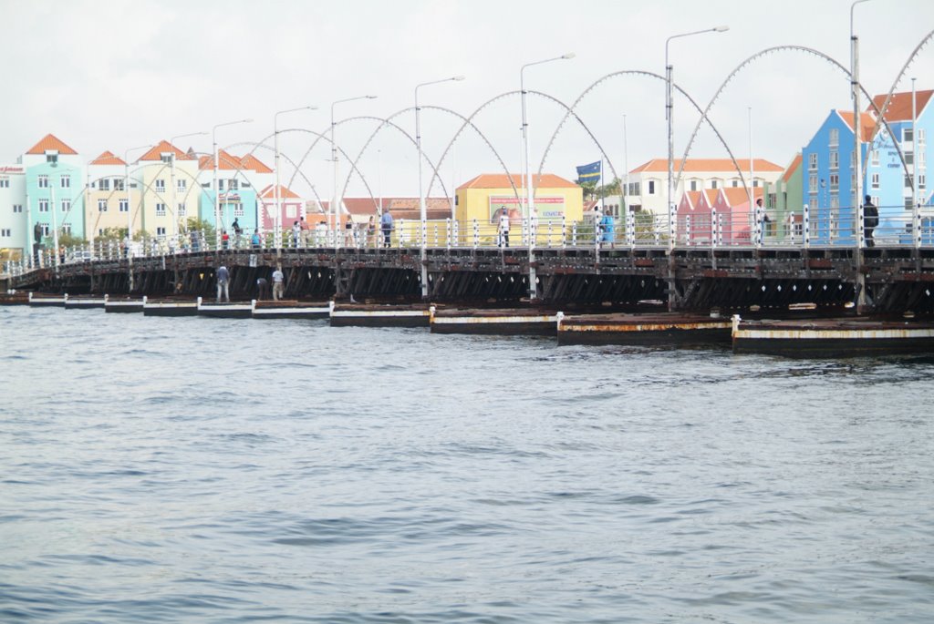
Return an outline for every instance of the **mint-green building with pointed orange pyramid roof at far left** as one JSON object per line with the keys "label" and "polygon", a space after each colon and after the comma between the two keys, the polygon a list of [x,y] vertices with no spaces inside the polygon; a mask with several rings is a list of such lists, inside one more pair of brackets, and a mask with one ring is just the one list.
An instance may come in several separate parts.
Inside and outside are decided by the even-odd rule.
{"label": "mint-green building with pointed orange pyramid roof at far left", "polygon": [[20,157],[19,163],[26,170],[27,245],[35,243],[35,224],[39,224],[47,244],[54,238],[53,229],[58,229],[59,235],[83,239],[84,163],[78,152],[54,134],[47,134]]}

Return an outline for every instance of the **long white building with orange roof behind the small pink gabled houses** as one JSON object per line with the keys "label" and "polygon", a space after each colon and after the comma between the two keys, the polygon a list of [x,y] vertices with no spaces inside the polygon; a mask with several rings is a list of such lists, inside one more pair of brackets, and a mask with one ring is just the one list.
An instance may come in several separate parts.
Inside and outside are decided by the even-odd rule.
{"label": "long white building with orange roof behind the small pink gabled houses", "polygon": [[[736,171],[731,159],[686,159],[681,183],[673,188],[672,198],[678,201],[686,191],[705,188],[762,187],[774,184],[784,169],[771,160],[753,159],[750,176],[749,159],[737,159],[743,171]],[[681,169],[681,159],[674,159],[674,175]],[[668,192],[668,159],[651,159],[630,172],[626,189],[626,205],[633,211],[648,211],[667,215],[665,194]]]}

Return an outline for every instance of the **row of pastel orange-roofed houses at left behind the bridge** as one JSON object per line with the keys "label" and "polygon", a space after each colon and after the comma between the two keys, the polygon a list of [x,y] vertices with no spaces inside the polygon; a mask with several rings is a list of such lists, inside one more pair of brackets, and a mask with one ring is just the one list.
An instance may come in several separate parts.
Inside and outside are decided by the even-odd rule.
{"label": "row of pastel orange-roofed houses at left behind the bridge", "polygon": [[[165,238],[191,217],[218,229],[235,219],[245,232],[275,226],[275,173],[260,159],[219,150],[214,186],[213,156],[167,141],[133,161],[109,151],[86,161],[48,134],[15,164],[0,165],[0,249],[15,259],[53,229],[89,242],[128,229]],[[299,195],[279,187],[278,196],[280,223],[304,215]]]}

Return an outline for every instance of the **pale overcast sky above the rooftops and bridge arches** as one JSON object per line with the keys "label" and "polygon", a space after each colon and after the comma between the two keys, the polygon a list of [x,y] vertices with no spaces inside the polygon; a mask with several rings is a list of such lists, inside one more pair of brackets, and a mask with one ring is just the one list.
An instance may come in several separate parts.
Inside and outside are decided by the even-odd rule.
{"label": "pale overcast sky above the rooftops and bridge arches", "polygon": [[[211,150],[219,123],[220,146],[243,154],[268,142],[276,111],[318,105],[317,111],[279,116],[280,131],[327,132],[336,100],[375,94],[375,100],[337,104],[338,121],[390,118],[414,105],[418,83],[463,75],[461,82],[423,87],[422,142],[437,161],[460,120],[483,104],[519,89],[520,67],[574,52],[575,58],[526,69],[528,90],[571,105],[603,76],[624,70],[664,74],[665,40],[694,30],[729,25],[729,32],[675,39],[674,80],[706,106],[747,57],[772,46],[818,49],[849,67],[849,0],[0,0],[0,47],[5,85],[0,164],[11,163],[47,132],[86,159],[187,132],[178,146]],[[860,74],[871,93],[889,90],[913,49],[934,29],[932,0],[871,0],[856,7]],[[922,49],[899,90],[934,88],[934,46]],[[865,103],[864,103],[865,104]],[[729,82],[711,118],[737,158],[747,158],[750,137],[757,158],[785,165],[833,108],[852,109],[849,82],[830,62],[800,52],[779,52],[747,65]],[[528,101],[532,169],[564,115],[539,96]],[[605,150],[616,172],[665,158],[664,83],[651,76],[616,76],[587,92],[575,111]],[[517,94],[497,99],[474,117],[441,166],[446,187],[477,173],[502,173],[486,141],[513,172],[521,171],[521,108]],[[680,155],[699,116],[682,97],[674,104],[675,153]],[[625,132],[624,132],[625,119]],[[751,123],[750,123],[751,120]],[[392,119],[411,136],[415,116]],[[379,122],[358,119],[337,126],[337,143],[361,152]],[[750,132],[751,130],[751,132]],[[692,157],[727,152],[708,131]],[[311,132],[281,132],[283,154],[301,159]],[[133,152],[138,156],[140,152]],[[272,151],[256,155],[273,164]],[[576,122],[555,139],[545,171],[575,177],[574,165],[601,158]],[[310,150],[302,173],[318,194],[331,193],[330,146]],[[402,132],[380,132],[360,159],[374,193],[417,195],[417,155]],[[287,175],[288,178],[290,176]],[[342,174],[347,164],[342,164]],[[429,172],[425,169],[426,187]],[[293,182],[304,194],[306,184]],[[353,179],[350,196],[366,194]],[[435,186],[432,195],[442,194]]]}

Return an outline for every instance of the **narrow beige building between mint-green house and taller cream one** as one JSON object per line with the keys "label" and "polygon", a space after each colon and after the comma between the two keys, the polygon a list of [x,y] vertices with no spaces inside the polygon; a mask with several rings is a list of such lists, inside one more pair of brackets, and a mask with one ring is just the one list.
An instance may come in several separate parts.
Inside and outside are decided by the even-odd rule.
{"label": "narrow beige building between mint-green house and taller cream one", "polygon": [[126,233],[130,201],[125,188],[126,162],[106,151],[88,163],[85,183],[85,223],[88,241],[93,242],[107,229]]}

